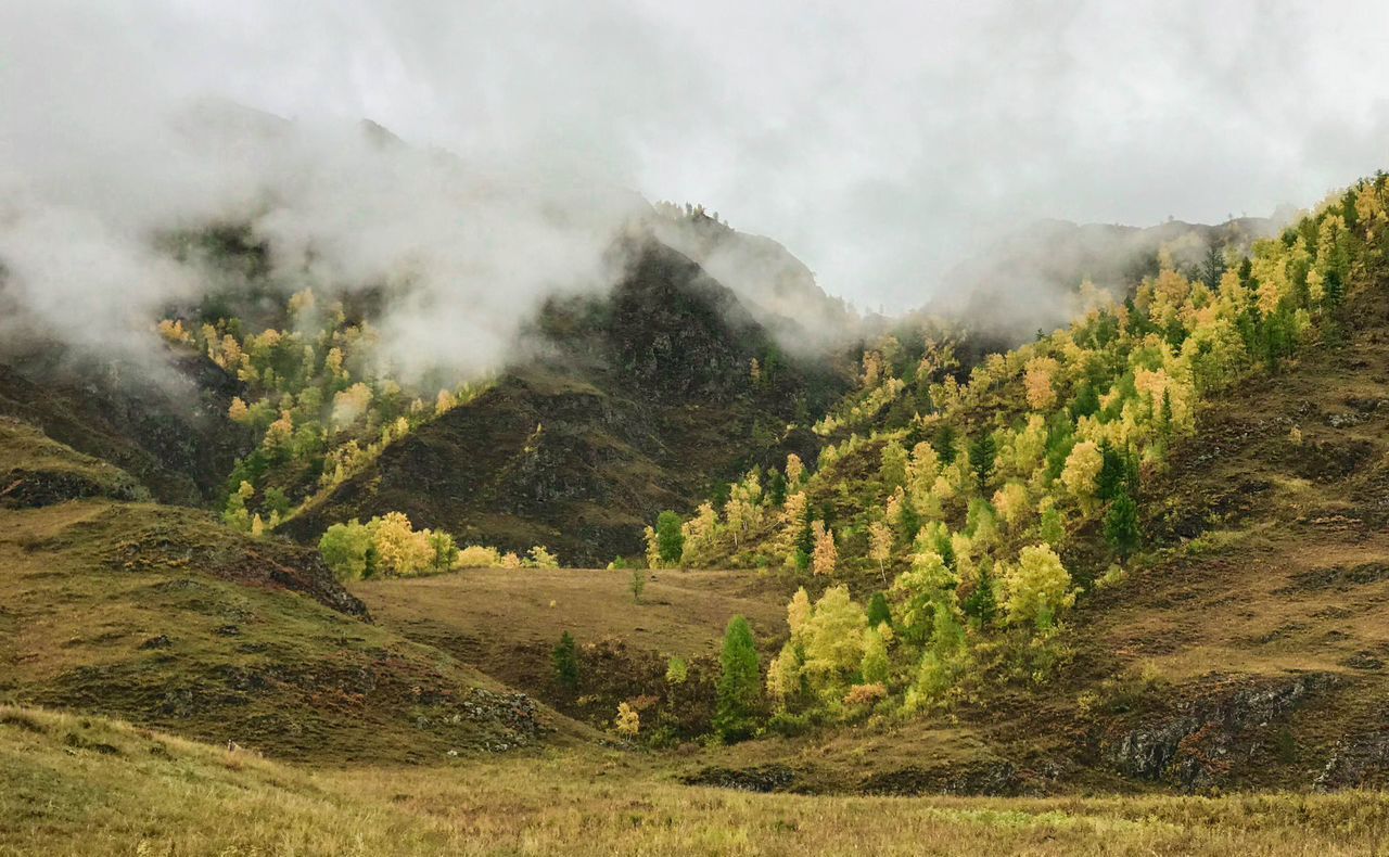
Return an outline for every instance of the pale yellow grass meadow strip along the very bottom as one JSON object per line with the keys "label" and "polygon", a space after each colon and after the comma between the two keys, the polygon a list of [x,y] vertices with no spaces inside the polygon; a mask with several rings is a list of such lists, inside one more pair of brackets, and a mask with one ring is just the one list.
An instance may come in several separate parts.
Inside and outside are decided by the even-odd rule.
{"label": "pale yellow grass meadow strip along the very bottom", "polygon": [[[0,707],[0,854],[1368,854],[1376,793],[892,799],[674,786],[614,753],[310,772]],[[136,785],[138,783],[138,785]]]}

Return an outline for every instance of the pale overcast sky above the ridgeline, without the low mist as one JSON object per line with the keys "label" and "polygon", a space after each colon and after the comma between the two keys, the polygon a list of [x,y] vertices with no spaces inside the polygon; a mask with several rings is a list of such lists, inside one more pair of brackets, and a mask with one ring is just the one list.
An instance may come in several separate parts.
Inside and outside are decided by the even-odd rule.
{"label": "pale overcast sky above the ridgeline, without the low mist", "polygon": [[201,94],[703,201],[895,308],[1028,218],[1268,214],[1385,165],[1389,3],[0,0],[0,156]]}

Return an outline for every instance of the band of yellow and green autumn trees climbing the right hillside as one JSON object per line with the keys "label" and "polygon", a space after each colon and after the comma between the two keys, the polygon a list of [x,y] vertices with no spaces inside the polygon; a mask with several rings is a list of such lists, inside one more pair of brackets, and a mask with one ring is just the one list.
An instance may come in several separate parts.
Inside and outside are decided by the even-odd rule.
{"label": "band of yellow and green autumn trees climbing the right hillside", "polygon": [[[1204,414],[1381,336],[1385,200],[1382,175],[1360,182],[1204,271],[1164,253],[1132,293],[1082,289],[1074,324],[963,382],[949,340],[883,338],[864,351],[858,389],[815,424],[814,461],[749,472],[696,515],[653,521],[650,561],[803,575],[760,689],[772,729],[950,711],[1065,681],[1072,617],[1147,590],[1131,578],[1182,540],[1236,538],[1210,531],[1245,500],[1238,489],[1174,481],[1249,438]],[[1374,357],[1371,388],[1383,382]],[[1333,426],[1376,418],[1368,389],[1349,401],[1368,410]],[[1282,453],[1293,472],[1281,478],[1382,474],[1378,446],[1325,442],[1317,411],[1301,413],[1308,425],[1279,414],[1285,447],[1306,450]],[[1357,508],[1379,508],[1379,488],[1358,489]]]}

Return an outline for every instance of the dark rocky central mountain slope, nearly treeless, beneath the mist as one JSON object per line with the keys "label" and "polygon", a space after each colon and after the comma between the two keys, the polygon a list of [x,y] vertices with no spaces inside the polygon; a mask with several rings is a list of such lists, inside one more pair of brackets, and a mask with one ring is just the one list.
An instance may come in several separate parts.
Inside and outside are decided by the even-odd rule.
{"label": "dark rocky central mountain slope, nearly treeless, beneath the mist", "polygon": [[843,389],[824,365],[782,356],[732,292],[658,243],[611,294],[551,301],[535,333],[531,360],[285,531],[311,540],[394,510],[465,540],[607,563],[639,553],[661,508],[689,510],[788,450],[808,456],[814,438],[788,425]]}

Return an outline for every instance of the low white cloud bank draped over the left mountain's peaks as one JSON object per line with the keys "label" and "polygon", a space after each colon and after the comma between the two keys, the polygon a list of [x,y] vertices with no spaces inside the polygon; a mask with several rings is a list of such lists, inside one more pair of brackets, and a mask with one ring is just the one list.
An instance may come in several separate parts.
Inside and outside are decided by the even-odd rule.
{"label": "low white cloud bank draped over the left mountain's peaks", "polygon": [[175,261],[161,239],[232,225],[268,249],[286,292],[390,290],[375,322],[392,372],[479,374],[547,297],[611,283],[614,240],[649,210],[631,192],[479,171],[360,122],[219,100],[143,122],[129,139],[158,157],[117,160],[94,136],[58,169],[31,160],[4,175],[0,340],[140,357],[161,311],[226,278],[197,256]]}

